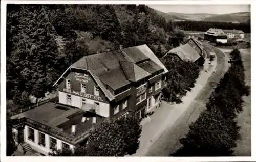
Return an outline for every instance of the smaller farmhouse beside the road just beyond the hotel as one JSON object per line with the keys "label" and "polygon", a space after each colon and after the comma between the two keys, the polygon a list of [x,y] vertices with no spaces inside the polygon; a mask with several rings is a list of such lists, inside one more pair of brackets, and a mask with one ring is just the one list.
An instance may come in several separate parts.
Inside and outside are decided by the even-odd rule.
{"label": "smaller farmhouse beside the road just beyond the hotel", "polygon": [[173,48],[168,51],[162,58],[161,61],[164,62],[166,57],[170,57],[173,61],[187,60],[197,63],[198,59],[202,57],[203,46],[202,43],[191,36],[187,41],[185,41],[179,47]]}

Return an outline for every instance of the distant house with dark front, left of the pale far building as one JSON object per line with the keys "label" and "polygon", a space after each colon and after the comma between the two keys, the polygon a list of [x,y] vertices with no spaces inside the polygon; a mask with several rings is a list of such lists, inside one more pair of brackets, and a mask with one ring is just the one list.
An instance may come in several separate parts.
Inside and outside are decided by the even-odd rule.
{"label": "distant house with dark front, left of the pale far building", "polygon": [[222,29],[210,28],[204,33],[204,39],[215,43],[227,43],[227,34]]}

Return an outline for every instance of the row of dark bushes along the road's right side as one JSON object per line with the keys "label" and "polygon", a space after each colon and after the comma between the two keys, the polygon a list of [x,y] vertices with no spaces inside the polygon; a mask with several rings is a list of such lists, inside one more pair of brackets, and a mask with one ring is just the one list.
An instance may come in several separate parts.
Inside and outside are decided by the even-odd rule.
{"label": "row of dark bushes along the road's right side", "polygon": [[239,129],[234,120],[243,111],[243,95],[249,94],[238,49],[231,53],[231,66],[206,104],[206,110],[189,126],[183,146],[172,156],[232,156]]}

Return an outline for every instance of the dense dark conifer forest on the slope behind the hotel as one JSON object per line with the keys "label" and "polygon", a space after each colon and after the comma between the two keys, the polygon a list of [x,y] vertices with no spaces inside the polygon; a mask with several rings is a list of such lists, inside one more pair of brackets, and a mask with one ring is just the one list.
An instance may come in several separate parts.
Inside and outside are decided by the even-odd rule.
{"label": "dense dark conifer forest on the slope behind the hotel", "polygon": [[97,51],[147,44],[161,57],[170,36],[172,23],[145,5],[8,4],[7,100],[28,106],[30,95],[44,97],[72,63]]}

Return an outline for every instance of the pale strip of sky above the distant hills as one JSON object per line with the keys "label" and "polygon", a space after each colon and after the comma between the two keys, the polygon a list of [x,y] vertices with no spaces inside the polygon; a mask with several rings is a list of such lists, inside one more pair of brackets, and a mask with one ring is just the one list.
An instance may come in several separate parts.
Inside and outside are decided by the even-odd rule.
{"label": "pale strip of sky above the distant hills", "polygon": [[250,12],[250,5],[148,5],[162,12],[228,14]]}

